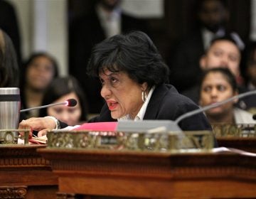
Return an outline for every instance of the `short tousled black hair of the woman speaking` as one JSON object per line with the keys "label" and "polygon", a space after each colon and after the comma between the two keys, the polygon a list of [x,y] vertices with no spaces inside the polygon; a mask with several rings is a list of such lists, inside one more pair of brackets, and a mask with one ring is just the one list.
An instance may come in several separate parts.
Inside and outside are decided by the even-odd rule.
{"label": "short tousled black hair of the woman speaking", "polygon": [[149,36],[142,31],[112,36],[95,45],[87,73],[98,76],[105,68],[127,72],[139,84],[149,87],[168,82],[169,68]]}

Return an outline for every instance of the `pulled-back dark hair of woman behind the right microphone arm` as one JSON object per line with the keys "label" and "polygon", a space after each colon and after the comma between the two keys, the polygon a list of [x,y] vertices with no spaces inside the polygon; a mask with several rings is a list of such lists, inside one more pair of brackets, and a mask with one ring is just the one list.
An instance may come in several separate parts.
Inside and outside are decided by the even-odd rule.
{"label": "pulled-back dark hair of woman behind the right microphone arm", "polygon": [[230,72],[230,70],[228,68],[211,68],[211,69],[203,71],[203,74],[202,74],[201,80],[200,80],[199,91],[201,91],[201,89],[202,89],[202,84],[203,84],[203,81],[206,79],[206,76],[212,72],[220,72],[222,75],[224,75],[225,79],[231,85],[233,92],[238,91],[238,85],[235,80],[235,76],[232,74],[232,72]]}

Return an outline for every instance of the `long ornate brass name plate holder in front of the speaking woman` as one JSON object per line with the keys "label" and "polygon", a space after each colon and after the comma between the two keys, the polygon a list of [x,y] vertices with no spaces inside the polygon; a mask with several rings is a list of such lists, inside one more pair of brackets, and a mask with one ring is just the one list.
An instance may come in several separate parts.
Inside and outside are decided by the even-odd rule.
{"label": "long ornate brass name plate holder in front of the speaking woman", "polygon": [[47,134],[47,147],[60,149],[103,149],[120,151],[168,151],[173,153],[210,151],[212,131],[63,131]]}

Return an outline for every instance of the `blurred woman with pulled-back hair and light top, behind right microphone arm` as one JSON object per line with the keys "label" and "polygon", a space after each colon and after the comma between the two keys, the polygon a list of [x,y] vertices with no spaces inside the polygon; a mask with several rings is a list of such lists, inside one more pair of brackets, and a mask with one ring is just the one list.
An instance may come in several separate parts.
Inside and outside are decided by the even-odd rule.
{"label": "blurred woman with pulled-back hair and light top, behind right microphone arm", "polygon": [[[235,76],[228,68],[212,68],[203,73],[200,84],[201,107],[221,102],[225,99],[238,95]],[[219,107],[207,110],[206,117],[210,124],[255,124],[252,114],[235,107],[238,100],[228,102]]]}

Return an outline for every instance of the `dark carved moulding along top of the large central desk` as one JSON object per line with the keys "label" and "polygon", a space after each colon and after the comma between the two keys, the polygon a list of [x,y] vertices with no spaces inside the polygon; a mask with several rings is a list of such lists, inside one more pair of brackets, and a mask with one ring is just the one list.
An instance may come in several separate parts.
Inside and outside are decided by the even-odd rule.
{"label": "dark carved moulding along top of the large central desk", "polygon": [[[39,149],[51,160],[53,172],[72,176],[203,179],[233,178],[256,181],[256,160],[238,154],[161,154],[125,151]],[[238,161],[238,158],[240,161]]]}

